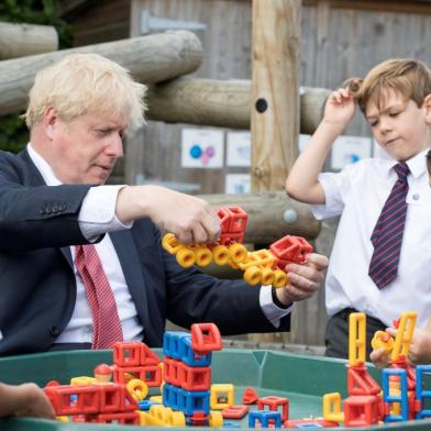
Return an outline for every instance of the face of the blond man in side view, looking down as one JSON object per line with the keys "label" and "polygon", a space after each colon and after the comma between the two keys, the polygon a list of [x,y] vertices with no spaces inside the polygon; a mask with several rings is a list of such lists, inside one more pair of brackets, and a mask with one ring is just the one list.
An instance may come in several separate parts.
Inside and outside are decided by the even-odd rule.
{"label": "face of the blond man in side view, looking down", "polygon": [[54,118],[47,158],[55,175],[65,184],[104,184],[123,156],[126,125],[113,114],[85,113],[69,122]]}

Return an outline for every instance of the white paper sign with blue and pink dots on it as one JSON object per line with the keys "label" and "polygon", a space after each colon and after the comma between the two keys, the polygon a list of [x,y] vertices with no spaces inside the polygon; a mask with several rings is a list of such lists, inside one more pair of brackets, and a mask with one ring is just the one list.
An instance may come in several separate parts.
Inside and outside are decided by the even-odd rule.
{"label": "white paper sign with blue and pink dots on it", "polygon": [[183,129],[181,166],[199,168],[223,167],[224,132],[214,129]]}

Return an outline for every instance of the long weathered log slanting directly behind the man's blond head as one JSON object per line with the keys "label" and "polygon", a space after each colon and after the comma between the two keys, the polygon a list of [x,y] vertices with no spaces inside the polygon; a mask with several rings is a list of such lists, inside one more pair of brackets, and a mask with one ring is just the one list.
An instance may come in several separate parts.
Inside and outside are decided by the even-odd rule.
{"label": "long weathered log slanting directly behind the man's blond head", "polygon": [[73,53],[96,53],[118,62],[142,82],[195,71],[202,45],[194,33],[175,31],[0,62],[0,115],[21,112],[37,70]]}

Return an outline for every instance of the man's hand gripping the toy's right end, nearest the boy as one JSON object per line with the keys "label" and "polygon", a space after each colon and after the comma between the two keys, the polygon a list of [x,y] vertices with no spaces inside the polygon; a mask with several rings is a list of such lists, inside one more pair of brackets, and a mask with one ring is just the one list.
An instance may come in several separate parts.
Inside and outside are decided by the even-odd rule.
{"label": "man's hand gripping the toy's right end, nearest the boy", "polygon": [[306,264],[289,264],[286,266],[287,286],[276,289],[277,298],[285,306],[310,298],[323,283],[324,270],[328,268],[328,257],[317,253],[306,256]]}

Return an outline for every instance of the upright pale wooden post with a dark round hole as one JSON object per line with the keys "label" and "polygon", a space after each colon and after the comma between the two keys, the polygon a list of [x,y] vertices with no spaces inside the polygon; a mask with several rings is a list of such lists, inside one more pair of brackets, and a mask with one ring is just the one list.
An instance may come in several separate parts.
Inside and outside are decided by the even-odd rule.
{"label": "upright pale wooden post with a dark round hole", "polygon": [[253,1],[253,191],[283,189],[298,154],[300,4]]}

